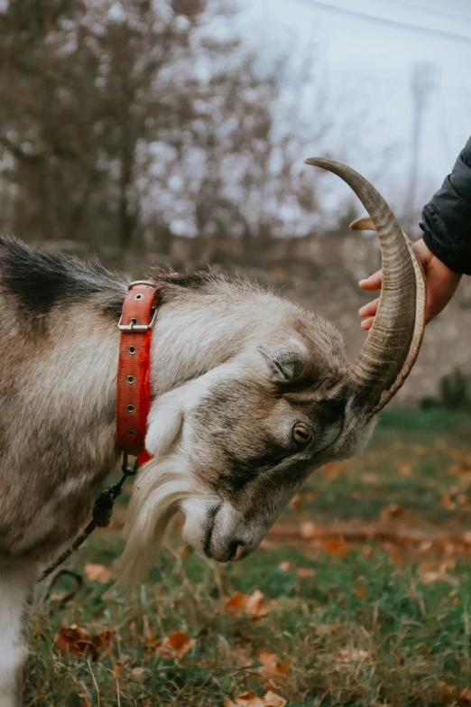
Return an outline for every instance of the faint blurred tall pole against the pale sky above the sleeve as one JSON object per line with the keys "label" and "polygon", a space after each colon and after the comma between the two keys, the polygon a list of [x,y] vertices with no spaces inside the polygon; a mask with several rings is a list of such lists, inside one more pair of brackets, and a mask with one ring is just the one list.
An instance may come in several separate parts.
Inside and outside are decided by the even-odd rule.
{"label": "faint blurred tall pole against the pale sky above the sleeve", "polygon": [[407,200],[408,227],[414,226],[417,183],[419,178],[420,146],[424,126],[425,110],[429,98],[439,85],[439,67],[431,61],[419,61],[411,69],[412,131],[411,131],[411,172]]}

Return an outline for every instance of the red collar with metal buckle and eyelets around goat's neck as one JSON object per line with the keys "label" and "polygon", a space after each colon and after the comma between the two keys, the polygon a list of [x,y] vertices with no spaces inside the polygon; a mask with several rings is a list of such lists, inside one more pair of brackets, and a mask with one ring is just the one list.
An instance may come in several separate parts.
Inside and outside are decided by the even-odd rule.
{"label": "red collar with metal buckle and eyelets around goat's neck", "polygon": [[151,408],[150,353],[152,325],[157,312],[157,285],[138,280],[129,285],[118,328],[119,360],[116,385],[116,442],[143,464]]}

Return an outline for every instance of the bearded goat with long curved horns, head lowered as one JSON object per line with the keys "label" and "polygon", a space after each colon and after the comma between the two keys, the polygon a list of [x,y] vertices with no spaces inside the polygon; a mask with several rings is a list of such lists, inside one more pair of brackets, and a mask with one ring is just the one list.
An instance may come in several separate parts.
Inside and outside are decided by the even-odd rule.
{"label": "bearded goat with long curved horns, head lowered", "polygon": [[[200,554],[240,560],[309,472],[361,452],[423,330],[420,266],[391,209],[328,160],[363,201],[383,293],[353,364],[336,328],[259,287],[208,273],[147,274],[160,307],[152,406],[128,509],[120,581],[142,577],[171,518]],[[116,323],[127,283],[98,265],[0,238],[0,704],[21,701],[32,591],[115,468]]]}

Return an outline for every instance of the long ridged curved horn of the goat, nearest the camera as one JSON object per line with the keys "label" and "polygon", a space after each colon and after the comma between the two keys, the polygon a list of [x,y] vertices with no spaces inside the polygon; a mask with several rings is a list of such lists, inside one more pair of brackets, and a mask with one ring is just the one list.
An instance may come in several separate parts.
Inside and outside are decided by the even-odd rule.
{"label": "long ridged curved horn of the goat, nearest the camera", "polygon": [[402,386],[420,349],[425,284],[420,264],[381,194],[361,174],[325,158],[307,164],[334,172],[365,206],[371,221],[358,224],[377,232],[383,260],[383,289],[368,338],[348,377],[368,411],[380,410]]}

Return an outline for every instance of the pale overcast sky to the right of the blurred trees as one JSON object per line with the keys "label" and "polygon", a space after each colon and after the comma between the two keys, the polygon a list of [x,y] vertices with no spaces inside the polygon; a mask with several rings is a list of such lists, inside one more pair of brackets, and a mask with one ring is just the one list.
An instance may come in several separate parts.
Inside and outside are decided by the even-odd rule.
{"label": "pale overcast sky to the right of the blurred trees", "polygon": [[[429,95],[420,150],[420,196],[439,188],[471,134],[471,2],[469,0],[245,0],[245,22],[260,41],[319,46],[331,81],[358,84],[372,97],[368,110],[377,119],[372,150],[397,144],[404,179],[409,173],[412,99],[411,71],[427,62],[436,87]],[[345,13],[330,8],[342,8]],[[390,21],[378,24],[348,11]],[[426,34],[395,23],[416,25]],[[459,37],[463,37],[460,40]],[[355,164],[368,175],[365,165]],[[381,185],[380,185],[381,186]]]}

